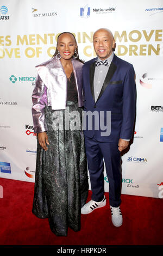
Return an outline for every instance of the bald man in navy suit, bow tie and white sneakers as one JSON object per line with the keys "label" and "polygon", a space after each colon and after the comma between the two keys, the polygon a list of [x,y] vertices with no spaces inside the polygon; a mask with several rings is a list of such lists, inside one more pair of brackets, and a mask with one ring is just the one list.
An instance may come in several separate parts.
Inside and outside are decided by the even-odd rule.
{"label": "bald man in navy suit, bow tie and white sneakers", "polygon": [[111,220],[119,227],[122,225],[121,151],[133,137],[135,72],[133,65],[115,56],[114,36],[108,29],[94,33],[93,46],[97,58],[83,65],[84,135],[92,199],[83,206],[82,214],[106,205],[105,163]]}

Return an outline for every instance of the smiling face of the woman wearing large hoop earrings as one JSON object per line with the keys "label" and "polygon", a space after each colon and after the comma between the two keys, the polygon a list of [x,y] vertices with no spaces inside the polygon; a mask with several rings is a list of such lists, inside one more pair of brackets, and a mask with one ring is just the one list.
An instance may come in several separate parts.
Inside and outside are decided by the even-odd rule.
{"label": "smiling face of the woman wearing large hoop earrings", "polygon": [[65,60],[71,59],[74,51],[77,48],[77,44],[73,38],[73,35],[68,33],[60,35],[57,48],[61,55],[61,58]]}

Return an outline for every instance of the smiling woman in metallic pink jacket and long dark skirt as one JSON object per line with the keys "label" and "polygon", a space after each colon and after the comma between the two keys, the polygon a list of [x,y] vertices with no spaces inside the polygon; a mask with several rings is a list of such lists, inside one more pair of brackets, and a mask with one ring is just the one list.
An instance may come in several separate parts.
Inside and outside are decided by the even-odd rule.
{"label": "smiling woman in metallic pink jacket and long dark skirt", "polygon": [[48,218],[55,235],[80,230],[88,192],[82,131],[82,66],[69,32],[58,36],[52,59],[36,66],[32,94],[37,158],[33,214]]}

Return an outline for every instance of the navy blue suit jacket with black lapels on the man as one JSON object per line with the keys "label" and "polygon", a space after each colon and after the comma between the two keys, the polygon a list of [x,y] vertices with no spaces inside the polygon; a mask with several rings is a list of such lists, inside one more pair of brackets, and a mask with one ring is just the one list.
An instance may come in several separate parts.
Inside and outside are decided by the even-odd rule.
{"label": "navy blue suit jacket with black lapels on the man", "polygon": [[[133,137],[136,98],[133,65],[114,54],[101,93],[95,102],[93,78],[96,59],[91,59],[83,65],[84,113],[86,117],[83,125],[84,134],[90,138],[95,135],[96,139],[101,142],[118,142],[120,138],[131,139]],[[100,113],[103,113],[104,124],[106,125],[107,111],[111,112],[111,133],[106,136],[106,132],[105,136],[102,136],[104,129],[103,127],[101,129],[101,125],[97,129],[95,119],[97,113],[99,116]],[[92,129],[88,125],[89,118],[91,118],[89,113],[94,113],[96,116],[93,115]]]}

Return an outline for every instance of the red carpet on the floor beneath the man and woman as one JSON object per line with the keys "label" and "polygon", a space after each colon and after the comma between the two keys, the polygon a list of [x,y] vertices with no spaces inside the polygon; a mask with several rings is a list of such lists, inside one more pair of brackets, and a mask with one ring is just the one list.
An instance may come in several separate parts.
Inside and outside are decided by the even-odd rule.
{"label": "red carpet on the floor beneath the man and woman", "polygon": [[[68,229],[57,237],[48,220],[32,214],[34,183],[0,178],[1,245],[162,245],[163,200],[122,194],[123,225],[111,223],[109,201],[105,208],[82,215],[82,229]],[[105,193],[108,200],[108,193]],[[91,198],[91,191],[89,198]]]}

